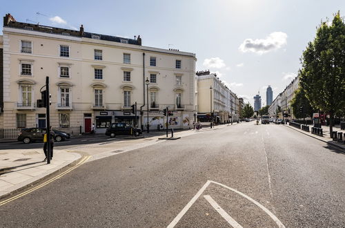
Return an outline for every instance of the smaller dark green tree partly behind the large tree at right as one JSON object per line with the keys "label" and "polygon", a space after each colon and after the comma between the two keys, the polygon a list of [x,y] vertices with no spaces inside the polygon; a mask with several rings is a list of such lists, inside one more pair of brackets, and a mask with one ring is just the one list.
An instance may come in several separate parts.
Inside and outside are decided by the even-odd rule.
{"label": "smaller dark green tree partly behind the large tree at right", "polygon": [[293,100],[291,101],[291,107],[293,108],[293,115],[296,118],[311,117],[313,108],[311,103],[306,98],[306,93],[299,88],[295,91]]}

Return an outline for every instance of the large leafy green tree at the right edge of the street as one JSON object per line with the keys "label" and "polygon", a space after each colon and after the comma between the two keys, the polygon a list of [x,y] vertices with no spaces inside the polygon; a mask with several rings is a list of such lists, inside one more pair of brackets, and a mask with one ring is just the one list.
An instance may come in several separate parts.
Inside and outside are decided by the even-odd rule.
{"label": "large leafy green tree at the right edge of the street", "polygon": [[311,106],[330,115],[345,106],[345,24],[337,12],[332,24],[322,22],[301,58],[300,86]]}

